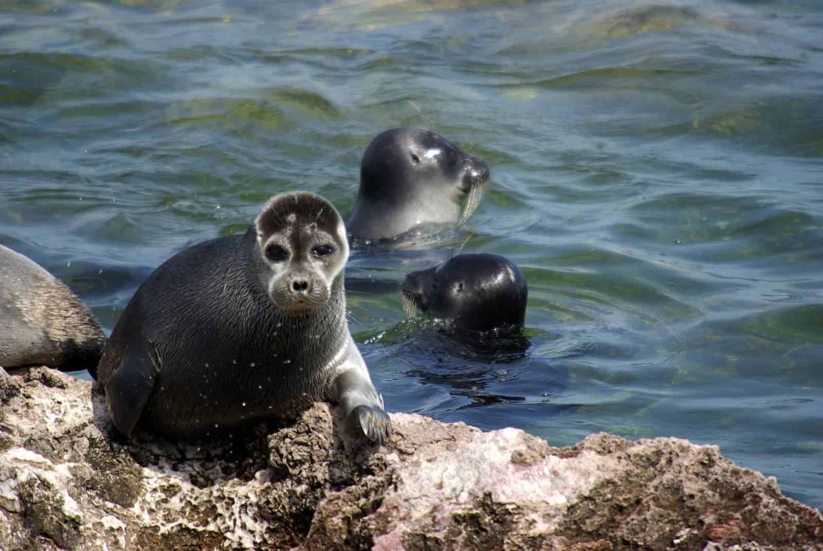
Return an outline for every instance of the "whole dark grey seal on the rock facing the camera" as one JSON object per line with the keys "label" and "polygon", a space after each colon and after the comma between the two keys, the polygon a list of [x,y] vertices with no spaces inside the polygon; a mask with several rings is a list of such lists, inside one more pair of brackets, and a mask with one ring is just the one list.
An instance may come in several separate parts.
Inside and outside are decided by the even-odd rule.
{"label": "whole dark grey seal on the rock facing the camera", "polygon": [[114,426],[194,438],[325,400],[385,441],[391,421],[346,323],[348,253],[337,210],[294,192],[269,199],[245,234],[161,264],[100,359]]}

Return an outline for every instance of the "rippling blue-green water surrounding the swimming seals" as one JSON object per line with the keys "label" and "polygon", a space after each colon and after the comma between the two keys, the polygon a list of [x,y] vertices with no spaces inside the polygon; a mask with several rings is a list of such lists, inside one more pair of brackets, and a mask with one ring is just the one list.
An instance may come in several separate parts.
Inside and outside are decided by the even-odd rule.
{"label": "rippling blue-green water surrounding the swimming seals", "polygon": [[[349,212],[374,135],[434,128],[492,185],[434,250],[351,259],[389,410],[686,437],[823,506],[817,2],[3,6],[0,242],[107,331],[174,252],[283,190]],[[463,241],[528,278],[525,355],[405,320],[403,273]]]}

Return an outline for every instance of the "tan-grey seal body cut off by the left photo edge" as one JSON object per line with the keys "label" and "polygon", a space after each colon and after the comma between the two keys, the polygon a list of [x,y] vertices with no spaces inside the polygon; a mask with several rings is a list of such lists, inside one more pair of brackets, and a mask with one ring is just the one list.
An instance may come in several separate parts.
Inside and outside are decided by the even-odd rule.
{"label": "tan-grey seal body cut off by the left photo edge", "polygon": [[97,365],[105,334],[66,285],[0,245],[0,366],[77,371]]}

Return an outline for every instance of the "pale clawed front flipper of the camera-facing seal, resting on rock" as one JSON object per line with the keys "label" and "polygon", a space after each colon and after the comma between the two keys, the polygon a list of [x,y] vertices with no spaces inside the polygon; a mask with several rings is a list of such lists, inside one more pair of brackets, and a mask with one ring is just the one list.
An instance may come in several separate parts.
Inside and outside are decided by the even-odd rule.
{"label": "pale clawed front flipper of the camera-facing seal, resting on rock", "polygon": [[343,371],[334,381],[335,401],[346,414],[346,426],[362,431],[370,441],[383,444],[392,436],[392,420],[383,410],[383,396],[377,394],[368,372],[358,369]]}

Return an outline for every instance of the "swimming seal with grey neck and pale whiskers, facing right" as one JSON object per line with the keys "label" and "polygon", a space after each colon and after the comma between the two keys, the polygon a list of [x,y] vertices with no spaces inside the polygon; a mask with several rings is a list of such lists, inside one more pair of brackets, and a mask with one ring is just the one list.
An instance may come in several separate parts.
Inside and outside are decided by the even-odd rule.
{"label": "swimming seal with grey neck and pale whiskers, facing right", "polygon": [[391,128],[363,154],[360,189],[346,230],[355,239],[376,240],[416,226],[463,224],[488,182],[485,162],[438,133]]}

